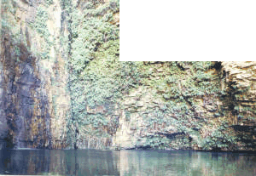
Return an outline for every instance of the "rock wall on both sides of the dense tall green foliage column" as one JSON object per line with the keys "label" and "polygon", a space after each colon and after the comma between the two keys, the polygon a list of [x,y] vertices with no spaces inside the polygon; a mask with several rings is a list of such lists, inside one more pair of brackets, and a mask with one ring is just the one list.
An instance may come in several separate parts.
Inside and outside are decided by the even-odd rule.
{"label": "rock wall on both sides of the dense tall green foliage column", "polygon": [[[101,2],[94,2],[97,15],[104,16],[116,6],[101,6]],[[77,0],[0,2],[0,148],[66,147],[67,122],[73,122],[69,124],[75,133],[71,140],[78,140],[79,148],[104,144],[133,149],[165,144],[166,149],[205,146],[232,150],[235,141],[239,141],[236,149],[256,148],[256,62],[212,62],[207,69],[203,69],[207,62],[172,62],[175,66],[171,62],[143,62],[137,70],[142,79],[137,86],[122,87],[122,97],[112,102],[115,108],[106,103],[94,109],[84,105],[81,110],[86,113],[80,120],[100,114],[108,126],[75,122],[67,86],[72,53],[67,7],[71,3],[81,14],[90,9],[87,2]],[[119,10],[113,12],[109,24],[119,26]],[[100,44],[93,47],[101,50]],[[93,60],[97,58],[89,62]],[[88,130],[108,135],[96,138]]]}

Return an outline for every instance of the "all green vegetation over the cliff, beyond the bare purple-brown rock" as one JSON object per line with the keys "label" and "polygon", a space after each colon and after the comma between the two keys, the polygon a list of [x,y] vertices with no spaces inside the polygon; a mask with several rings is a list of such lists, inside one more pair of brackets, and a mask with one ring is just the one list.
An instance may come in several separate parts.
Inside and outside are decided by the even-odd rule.
{"label": "all green vegetation over the cliff, beyond the bare purple-brown rock", "polygon": [[[33,6],[31,1],[22,2]],[[12,40],[10,58],[21,63],[26,51],[22,49],[27,48],[37,61],[48,66],[48,86],[56,89],[49,96],[54,106],[52,116],[60,116],[57,102],[64,93],[57,92],[70,93],[72,111],[65,124],[71,147],[73,143],[79,148],[97,149],[113,145],[202,150],[256,146],[256,108],[250,101],[256,78],[241,83],[244,77],[234,76],[238,71],[233,75],[225,72],[224,63],[218,61],[120,62],[119,0],[61,0],[60,4],[47,0],[33,6],[34,16],[27,21],[17,17],[18,3],[1,2],[9,12],[1,19],[1,34]],[[57,9],[57,5],[61,6],[61,17],[53,18],[49,8]],[[53,19],[61,20],[61,30],[56,32],[60,36],[49,32],[57,29],[51,24]],[[21,26],[32,34],[22,31]],[[38,35],[33,37],[37,42],[31,44],[29,35]],[[56,54],[49,57],[50,52]],[[63,66],[62,72],[58,66]],[[58,80],[65,71],[69,73],[68,82],[63,79],[61,84]],[[57,88],[66,84],[67,90]]]}

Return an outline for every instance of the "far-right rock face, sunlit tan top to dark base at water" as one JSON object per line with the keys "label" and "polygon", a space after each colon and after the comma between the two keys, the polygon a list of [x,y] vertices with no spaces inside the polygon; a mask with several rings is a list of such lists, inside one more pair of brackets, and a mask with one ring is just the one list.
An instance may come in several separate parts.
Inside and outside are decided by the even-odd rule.
{"label": "far-right rock face, sunlit tan top to dark base at water", "polygon": [[[229,106],[230,113],[226,116],[234,128],[239,140],[240,150],[255,150],[255,66],[254,61],[221,62],[226,75],[224,85],[229,92],[223,104]],[[247,145],[243,144],[246,143]]]}

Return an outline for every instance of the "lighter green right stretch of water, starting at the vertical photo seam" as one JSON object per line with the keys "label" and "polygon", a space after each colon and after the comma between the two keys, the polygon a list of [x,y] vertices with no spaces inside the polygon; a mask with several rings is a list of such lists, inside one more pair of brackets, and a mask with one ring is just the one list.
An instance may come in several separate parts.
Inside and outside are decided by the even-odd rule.
{"label": "lighter green right stretch of water, starting at the vertical photo seam", "polygon": [[121,175],[256,175],[256,156],[192,150],[121,150]]}

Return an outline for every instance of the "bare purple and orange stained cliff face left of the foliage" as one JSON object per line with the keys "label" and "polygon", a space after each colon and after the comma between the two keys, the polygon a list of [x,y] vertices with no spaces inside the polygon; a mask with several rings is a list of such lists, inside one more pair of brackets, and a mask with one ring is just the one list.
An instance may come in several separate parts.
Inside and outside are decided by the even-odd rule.
{"label": "bare purple and orange stained cliff face left of the foliage", "polygon": [[61,1],[1,7],[0,139],[15,147],[65,147],[70,98]]}

